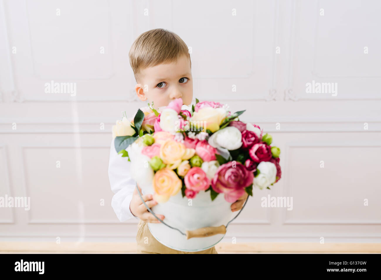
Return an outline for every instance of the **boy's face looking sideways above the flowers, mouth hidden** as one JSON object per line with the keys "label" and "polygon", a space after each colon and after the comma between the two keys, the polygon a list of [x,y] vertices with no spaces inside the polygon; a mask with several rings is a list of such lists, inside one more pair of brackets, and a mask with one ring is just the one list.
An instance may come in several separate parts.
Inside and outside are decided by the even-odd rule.
{"label": "boy's face looking sideways above the flowers, mouth hidden", "polygon": [[135,91],[140,100],[154,102],[155,108],[167,106],[176,98],[190,105],[193,99],[193,78],[189,57],[182,56],[168,64],[158,64],[141,72],[141,83]]}

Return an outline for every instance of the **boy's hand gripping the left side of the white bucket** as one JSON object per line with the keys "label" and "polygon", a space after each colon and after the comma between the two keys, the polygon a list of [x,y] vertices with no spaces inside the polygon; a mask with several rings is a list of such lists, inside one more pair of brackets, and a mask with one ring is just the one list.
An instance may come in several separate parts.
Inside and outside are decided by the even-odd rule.
{"label": "boy's hand gripping the left side of the white bucket", "polygon": [[[139,185],[138,185],[138,188],[139,188]],[[139,191],[142,194],[141,188],[139,188]],[[157,202],[152,199],[152,194],[142,195],[142,198],[149,208],[157,204]],[[136,188],[134,190],[134,194],[131,199],[130,211],[134,216],[140,218],[142,221],[146,223],[161,223],[159,220],[155,218],[154,215],[152,215],[152,213],[150,213],[147,210],[146,205],[143,204]],[[155,215],[162,220],[164,219],[163,215],[157,215],[156,213]]]}

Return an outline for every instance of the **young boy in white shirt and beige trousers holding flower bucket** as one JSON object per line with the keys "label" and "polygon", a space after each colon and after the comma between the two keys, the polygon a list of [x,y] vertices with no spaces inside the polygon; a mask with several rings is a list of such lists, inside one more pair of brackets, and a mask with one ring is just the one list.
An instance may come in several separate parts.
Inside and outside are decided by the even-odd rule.
{"label": "young boy in white shirt and beige trousers holding flower bucket", "polygon": [[[137,83],[135,91],[140,100],[148,100],[149,103],[154,101],[155,108],[167,106],[172,100],[180,97],[185,105],[192,103],[191,57],[187,45],[178,35],[165,29],[144,32],[131,46],[129,56]],[[113,140],[110,150],[109,179],[115,195],[112,197],[111,206],[120,221],[132,217],[139,219],[136,236],[137,252],[217,254],[215,247],[199,252],[173,250],[162,245],[152,236],[147,223],[160,223],[160,221],[142,203],[135,181],[129,174],[130,164],[131,162],[117,154]],[[139,191],[141,192],[141,189]],[[157,204],[152,199],[152,194],[143,195],[142,198],[148,207]],[[247,194],[234,202],[231,205],[232,212],[240,210],[246,199]],[[165,218],[160,213],[156,215],[162,220]],[[148,244],[144,242],[145,237],[148,237]]]}

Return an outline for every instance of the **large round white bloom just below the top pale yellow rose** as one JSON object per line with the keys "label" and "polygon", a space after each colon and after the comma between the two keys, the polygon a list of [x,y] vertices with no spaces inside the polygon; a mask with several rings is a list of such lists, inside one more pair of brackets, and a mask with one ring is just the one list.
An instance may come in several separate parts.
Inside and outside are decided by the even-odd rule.
{"label": "large round white bloom just below the top pale yellow rose", "polygon": [[227,126],[212,134],[208,143],[215,148],[226,148],[227,150],[237,150],[242,146],[242,134],[237,127]]}

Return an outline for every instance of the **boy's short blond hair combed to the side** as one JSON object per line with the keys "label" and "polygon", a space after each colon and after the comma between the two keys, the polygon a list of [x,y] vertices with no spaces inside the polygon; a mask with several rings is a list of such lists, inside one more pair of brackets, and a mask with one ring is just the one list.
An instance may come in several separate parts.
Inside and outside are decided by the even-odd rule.
{"label": "boy's short blond hair combed to the side", "polygon": [[186,43],[176,33],[162,28],[140,34],[128,53],[136,83],[141,81],[141,71],[144,68],[170,63],[183,55],[189,57],[192,68],[191,56]]}

